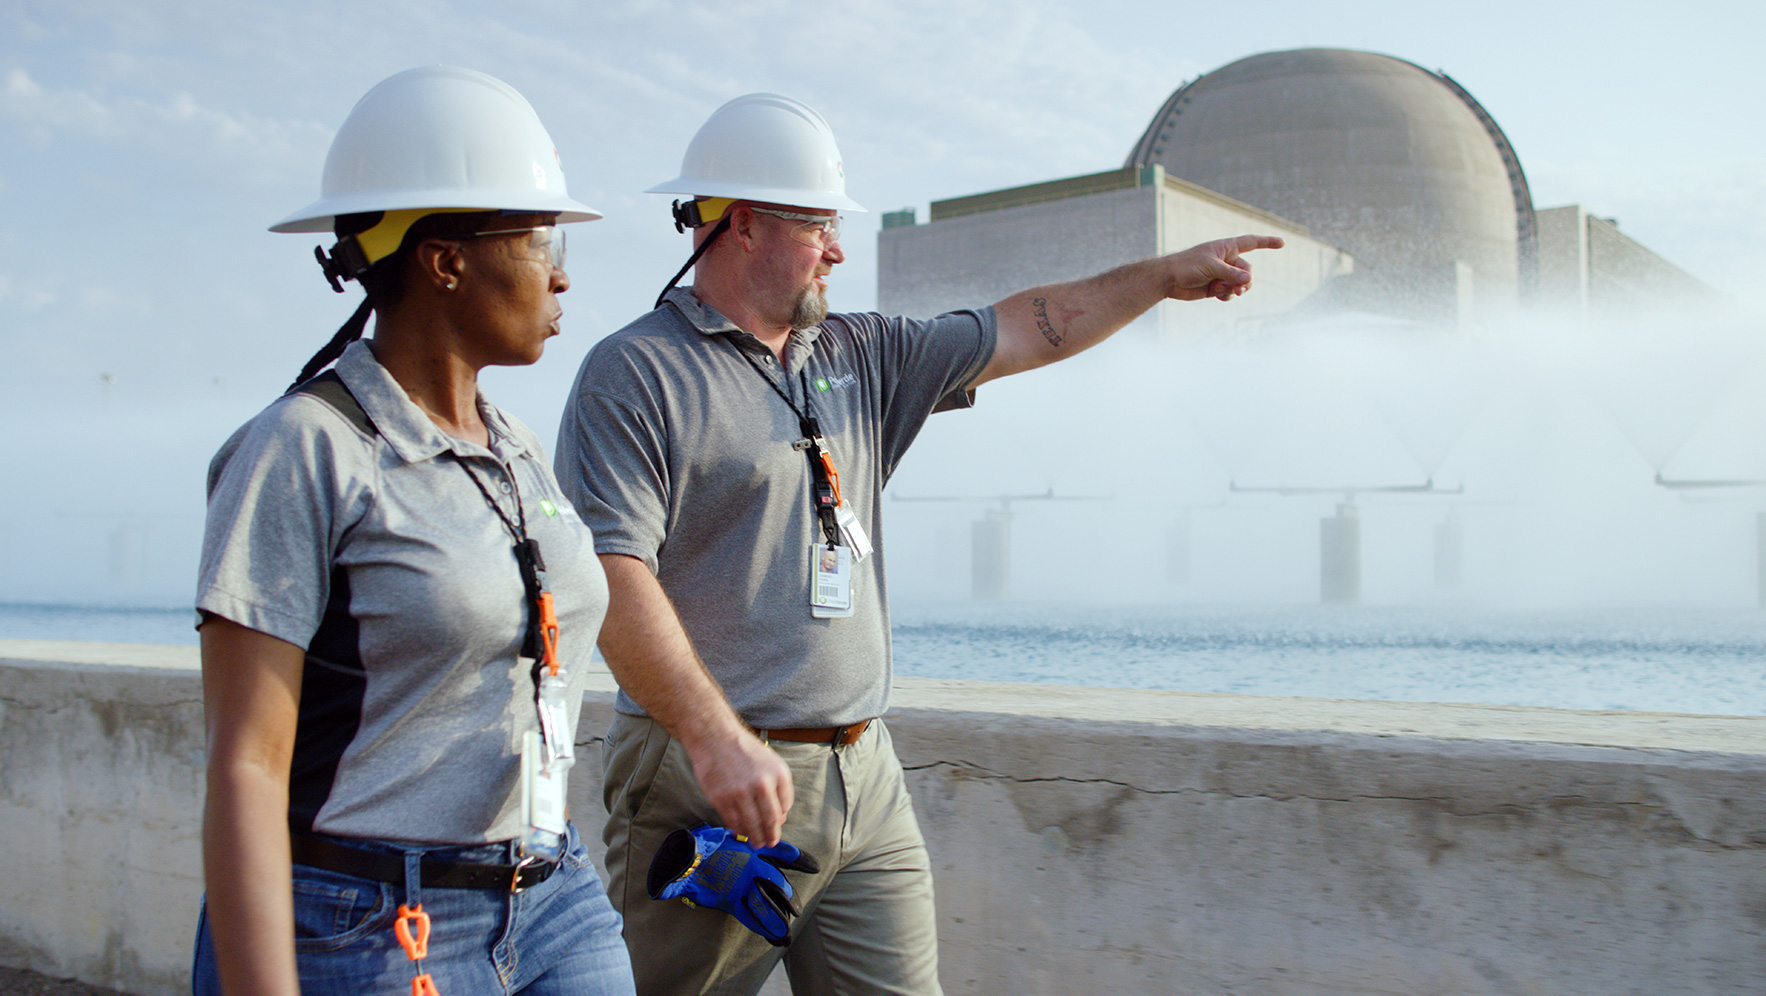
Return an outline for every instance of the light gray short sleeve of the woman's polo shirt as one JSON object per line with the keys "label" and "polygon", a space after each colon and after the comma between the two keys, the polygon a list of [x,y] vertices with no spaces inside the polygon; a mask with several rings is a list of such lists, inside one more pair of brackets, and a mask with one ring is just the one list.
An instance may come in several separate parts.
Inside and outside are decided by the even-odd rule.
{"label": "light gray short sleeve of the woman's polo shirt", "polygon": [[311,397],[277,403],[235,433],[208,466],[196,609],[307,646],[371,449]]}

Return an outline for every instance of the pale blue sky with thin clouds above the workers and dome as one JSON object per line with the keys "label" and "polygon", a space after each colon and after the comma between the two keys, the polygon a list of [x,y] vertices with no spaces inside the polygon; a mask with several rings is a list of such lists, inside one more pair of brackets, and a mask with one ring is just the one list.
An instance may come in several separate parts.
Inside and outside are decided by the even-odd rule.
{"label": "pale blue sky with thin clouds above the workers and dome", "polygon": [[549,440],[583,351],[648,309],[685,258],[668,198],[641,191],[743,92],[816,106],[848,192],[872,212],[846,219],[837,309],[874,306],[881,212],[924,219],[932,200],[1116,168],[1187,79],[1330,46],[1452,74],[1506,131],[1536,205],[1616,217],[1766,311],[1759,37],[1766,7],[1722,2],[1694,18],[1506,0],[11,0],[0,600],[79,597],[78,569],[49,586],[30,572],[102,556],[115,569],[132,549],[118,521],[178,551],[145,555],[164,563],[155,590],[187,583],[175,579],[192,563],[208,454],[358,295],[327,288],[313,237],[265,228],[314,200],[353,102],[411,65],[512,83],[551,131],[570,194],[606,212],[570,233],[563,336],[537,367],[484,378]]}

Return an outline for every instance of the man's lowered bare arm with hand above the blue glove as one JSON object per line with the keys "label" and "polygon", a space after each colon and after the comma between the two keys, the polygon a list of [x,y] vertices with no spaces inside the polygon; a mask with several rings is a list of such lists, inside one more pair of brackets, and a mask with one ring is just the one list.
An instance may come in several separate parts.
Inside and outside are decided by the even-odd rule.
{"label": "man's lowered bare arm with hand above the blue glove", "polygon": [[777,844],[791,809],[791,770],[729,708],[650,567],[618,553],[600,555],[600,565],[609,590],[600,627],[608,669],[687,749],[724,826],[756,846]]}

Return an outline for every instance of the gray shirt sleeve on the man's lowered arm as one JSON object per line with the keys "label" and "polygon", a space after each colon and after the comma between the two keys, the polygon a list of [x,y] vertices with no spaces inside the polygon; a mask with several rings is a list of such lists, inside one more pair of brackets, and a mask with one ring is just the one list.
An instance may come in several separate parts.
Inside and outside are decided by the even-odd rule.
{"label": "gray shirt sleeve on the man's lowered arm", "polygon": [[577,374],[558,427],[558,486],[595,535],[595,553],[636,556],[655,572],[668,535],[669,466],[664,429],[620,396],[645,380],[602,343]]}

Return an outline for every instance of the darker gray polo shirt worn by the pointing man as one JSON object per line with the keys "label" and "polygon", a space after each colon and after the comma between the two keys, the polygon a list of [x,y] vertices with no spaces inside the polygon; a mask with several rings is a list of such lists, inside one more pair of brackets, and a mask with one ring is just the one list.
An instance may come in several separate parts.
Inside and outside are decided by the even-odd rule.
{"label": "darker gray polo shirt worn by the pointing man", "polygon": [[[879,500],[938,408],[966,406],[992,357],[994,313],[929,321],[834,314],[772,351],[689,290],[602,339],[558,431],[558,479],[599,553],[643,560],[712,676],[756,728],[834,726],[888,705],[890,634]],[[754,364],[759,366],[756,371]],[[821,422],[841,493],[876,544],[853,572],[851,618],[812,618],[821,535],[798,419]],[[623,692],[618,708],[643,710]]]}

